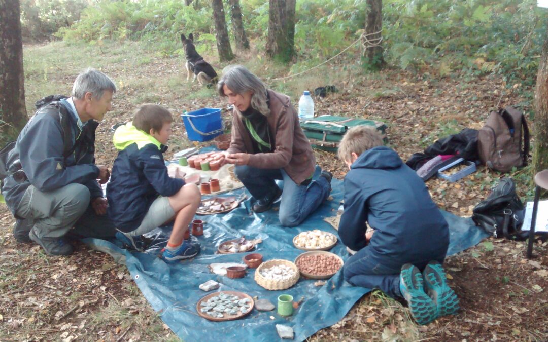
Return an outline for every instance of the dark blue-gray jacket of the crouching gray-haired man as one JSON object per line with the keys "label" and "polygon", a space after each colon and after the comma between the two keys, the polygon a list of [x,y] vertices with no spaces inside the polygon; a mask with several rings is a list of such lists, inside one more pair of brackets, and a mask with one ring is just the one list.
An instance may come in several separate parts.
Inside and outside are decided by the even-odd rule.
{"label": "dark blue-gray jacket of the crouching gray-haired man", "polygon": [[35,186],[41,192],[79,183],[88,187],[91,198],[102,197],[96,179],[95,129],[98,122],[87,121],[80,131],[71,109],[48,96],[36,103],[38,111],[22,129],[15,147],[8,155],[8,166],[20,160],[27,180],[15,181],[8,176],[3,181],[2,194],[15,215],[25,190]]}

